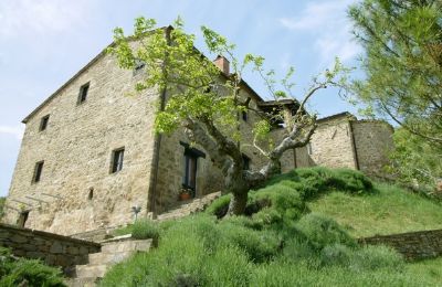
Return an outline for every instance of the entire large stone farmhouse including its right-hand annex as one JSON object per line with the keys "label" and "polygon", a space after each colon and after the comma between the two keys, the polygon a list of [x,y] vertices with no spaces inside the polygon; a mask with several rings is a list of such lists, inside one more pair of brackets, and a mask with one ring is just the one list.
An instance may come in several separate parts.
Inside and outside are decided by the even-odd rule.
{"label": "entire large stone farmhouse including its right-hand annex", "polygon": [[[225,59],[214,64],[229,74]],[[128,96],[140,74],[119,68],[102,52],[23,119],[6,223],[71,235],[131,222],[134,211],[161,213],[179,204],[182,188],[197,198],[222,190],[210,155],[191,147],[182,131],[155,135],[154,105],[168,95],[150,89]],[[253,108],[274,105],[245,82],[242,87],[241,97]],[[295,102],[287,105],[294,108]],[[250,138],[255,115],[239,120]],[[272,137],[282,132],[275,129]],[[375,174],[386,162],[391,132],[386,123],[349,114],[322,119],[308,147],[284,155],[283,171],[324,164]],[[253,169],[264,159],[244,148],[244,160]]]}

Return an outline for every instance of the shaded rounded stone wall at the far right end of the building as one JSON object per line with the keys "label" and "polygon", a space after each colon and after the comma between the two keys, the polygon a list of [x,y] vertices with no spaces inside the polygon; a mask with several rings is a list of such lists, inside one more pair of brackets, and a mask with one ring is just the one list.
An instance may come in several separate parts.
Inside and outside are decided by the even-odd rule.
{"label": "shaded rounded stone wall at the far right end of the building", "polygon": [[350,121],[355,137],[359,170],[371,177],[383,177],[393,148],[393,128],[382,120]]}

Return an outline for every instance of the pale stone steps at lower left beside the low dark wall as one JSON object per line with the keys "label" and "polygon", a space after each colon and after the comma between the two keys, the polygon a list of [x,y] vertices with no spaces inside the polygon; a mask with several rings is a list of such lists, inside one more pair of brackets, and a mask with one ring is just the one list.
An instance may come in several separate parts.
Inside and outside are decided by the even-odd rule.
{"label": "pale stone steps at lower left beside the low dark wall", "polygon": [[137,252],[148,252],[152,240],[135,241],[128,236],[115,237],[102,245],[102,252],[88,255],[88,264],[75,266],[75,277],[69,279],[70,287],[95,286],[110,266]]}

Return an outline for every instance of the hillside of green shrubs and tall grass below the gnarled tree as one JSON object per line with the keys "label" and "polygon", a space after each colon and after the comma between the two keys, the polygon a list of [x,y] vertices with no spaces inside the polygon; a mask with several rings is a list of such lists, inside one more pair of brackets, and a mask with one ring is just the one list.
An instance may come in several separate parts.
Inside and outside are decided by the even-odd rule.
{"label": "hillside of green shrubs and tall grass below the gnarled tree", "polygon": [[[227,195],[206,213],[134,225],[137,236],[158,237],[158,247],[116,265],[101,285],[438,286],[440,273],[432,268],[439,261],[410,265],[387,247],[359,246],[330,216],[309,210],[320,210],[322,201],[333,199],[338,206],[339,195],[364,202],[385,196],[387,190],[350,170],[292,171],[252,191],[244,216],[224,216]],[[421,199],[412,201],[417,208]]]}

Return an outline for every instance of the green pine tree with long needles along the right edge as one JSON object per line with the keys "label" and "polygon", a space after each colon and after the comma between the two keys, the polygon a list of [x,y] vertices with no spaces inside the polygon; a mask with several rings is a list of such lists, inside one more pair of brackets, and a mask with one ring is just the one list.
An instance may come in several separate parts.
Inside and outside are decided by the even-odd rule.
{"label": "green pine tree with long needles along the right edge", "polygon": [[[349,15],[366,52],[366,79],[355,83],[355,94],[370,114],[401,127],[392,156],[396,173],[435,183],[442,178],[442,1],[364,0],[350,7]],[[418,141],[428,161],[410,164],[420,156]]]}

